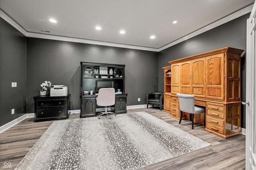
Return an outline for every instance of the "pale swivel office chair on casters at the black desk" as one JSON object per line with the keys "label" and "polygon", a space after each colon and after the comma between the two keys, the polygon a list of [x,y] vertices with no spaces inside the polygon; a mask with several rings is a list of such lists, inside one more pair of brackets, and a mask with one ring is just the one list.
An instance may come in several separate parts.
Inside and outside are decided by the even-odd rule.
{"label": "pale swivel office chair on casters at the black desk", "polygon": [[107,111],[107,106],[114,105],[115,100],[116,100],[116,95],[115,95],[114,88],[101,88],[99,90],[98,96],[96,97],[97,105],[105,106],[105,112],[99,113],[98,119],[100,119],[100,116],[102,115],[108,115],[109,119],[111,119],[109,114],[114,114],[116,116],[116,113]]}

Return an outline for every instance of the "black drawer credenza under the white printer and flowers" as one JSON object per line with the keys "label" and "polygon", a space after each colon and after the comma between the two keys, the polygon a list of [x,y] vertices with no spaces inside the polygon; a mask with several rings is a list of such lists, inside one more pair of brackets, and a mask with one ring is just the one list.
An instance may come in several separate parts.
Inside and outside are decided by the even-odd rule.
{"label": "black drawer credenza under the white printer and flowers", "polygon": [[70,94],[67,96],[35,96],[34,122],[68,119],[70,107]]}

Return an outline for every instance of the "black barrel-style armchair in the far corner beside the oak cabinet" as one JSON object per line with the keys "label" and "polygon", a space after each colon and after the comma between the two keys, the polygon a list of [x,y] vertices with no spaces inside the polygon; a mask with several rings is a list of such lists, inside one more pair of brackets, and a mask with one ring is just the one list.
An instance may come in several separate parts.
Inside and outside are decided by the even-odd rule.
{"label": "black barrel-style armchair in the far corner beside the oak cabinet", "polygon": [[164,108],[164,95],[163,93],[151,93],[150,95],[146,95],[146,103],[147,103],[147,109],[148,105],[156,105],[160,106],[160,111]]}

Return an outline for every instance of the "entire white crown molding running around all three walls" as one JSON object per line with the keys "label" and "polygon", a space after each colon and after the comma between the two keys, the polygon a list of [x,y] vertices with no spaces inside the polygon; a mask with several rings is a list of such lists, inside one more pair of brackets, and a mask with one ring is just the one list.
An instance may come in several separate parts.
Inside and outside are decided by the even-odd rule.
{"label": "entire white crown molding running around all three walls", "polygon": [[42,38],[42,39],[48,39],[48,40],[59,40],[59,41],[66,41],[66,42],[77,42],[77,43],[88,43],[88,44],[95,44],[95,45],[105,45],[105,46],[111,46],[111,47],[120,47],[120,48],[128,48],[128,49],[138,49],[138,50],[144,50],[144,51],[154,51],[159,52],[166,48],[169,48],[173,45],[176,45],[180,42],[186,41],[190,38],[193,38],[194,36],[197,36],[199,34],[202,34],[208,30],[211,30],[212,28],[218,27],[222,24],[225,24],[231,20],[234,20],[240,16],[243,16],[245,14],[248,14],[252,11],[253,4],[250,6],[247,6],[237,12],[234,12],[233,14],[230,14],[216,22],[213,22],[212,24],[209,24],[208,26],[205,26],[199,30],[196,30],[195,32],[192,32],[178,40],[175,40],[174,42],[168,43],[167,45],[164,45],[160,48],[151,48],[151,47],[141,47],[141,46],[135,46],[135,45],[126,45],[126,44],[118,44],[118,43],[110,43],[110,42],[100,42],[100,41],[94,41],[94,40],[86,40],[86,39],[80,39],[80,38],[70,38],[70,37],[63,37],[63,36],[52,36],[47,34],[38,34],[38,33],[32,33],[32,32],[26,32],[19,24],[17,24],[12,18],[7,16],[2,10],[0,10],[0,17],[3,18],[6,22],[8,22],[10,25],[12,25],[14,28],[16,28],[18,31],[20,31],[24,36],[31,37],[31,38]]}

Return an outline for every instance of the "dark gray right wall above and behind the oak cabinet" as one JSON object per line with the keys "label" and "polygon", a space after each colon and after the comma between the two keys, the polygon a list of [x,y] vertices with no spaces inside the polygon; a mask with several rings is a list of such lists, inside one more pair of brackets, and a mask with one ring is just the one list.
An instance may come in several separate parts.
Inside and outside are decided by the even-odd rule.
{"label": "dark gray right wall above and behind the oak cabinet", "polygon": [[[158,53],[158,91],[164,91],[164,71],[162,67],[168,66],[168,61],[189,57],[192,55],[233,47],[246,50],[246,14],[235,20],[222,24],[212,30],[178,43]],[[245,101],[245,59],[242,57],[242,101]],[[242,106],[242,125],[245,128],[245,109]]]}

